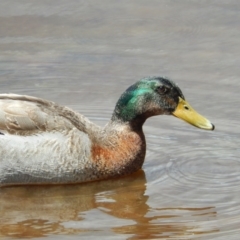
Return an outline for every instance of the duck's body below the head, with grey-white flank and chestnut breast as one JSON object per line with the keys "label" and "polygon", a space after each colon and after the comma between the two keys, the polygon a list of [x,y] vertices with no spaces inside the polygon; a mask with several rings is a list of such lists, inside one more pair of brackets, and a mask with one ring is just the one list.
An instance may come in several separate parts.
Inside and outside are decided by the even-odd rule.
{"label": "duck's body below the head, with grey-white flank and chestnut breast", "polygon": [[101,128],[67,107],[13,94],[0,95],[0,109],[1,185],[94,181],[143,164],[143,132],[128,124]]}

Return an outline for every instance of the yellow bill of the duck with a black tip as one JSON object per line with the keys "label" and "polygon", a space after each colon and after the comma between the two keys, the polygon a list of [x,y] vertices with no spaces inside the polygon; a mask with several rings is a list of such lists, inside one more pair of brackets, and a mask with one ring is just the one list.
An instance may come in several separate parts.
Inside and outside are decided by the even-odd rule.
{"label": "yellow bill of the duck with a black tip", "polygon": [[206,130],[214,130],[215,128],[209,120],[197,113],[187,101],[180,97],[178,106],[172,114],[198,128]]}

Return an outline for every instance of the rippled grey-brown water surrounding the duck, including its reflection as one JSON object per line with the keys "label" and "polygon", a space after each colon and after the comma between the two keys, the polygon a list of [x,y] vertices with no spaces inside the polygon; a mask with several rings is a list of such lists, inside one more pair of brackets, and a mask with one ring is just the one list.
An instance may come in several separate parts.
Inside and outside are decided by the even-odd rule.
{"label": "rippled grey-brown water surrounding the duck, including its reflection", "polygon": [[0,238],[239,239],[238,0],[0,5],[1,92],[104,125],[129,85],[163,75],[216,125],[149,119],[143,171],[126,178],[0,189]]}

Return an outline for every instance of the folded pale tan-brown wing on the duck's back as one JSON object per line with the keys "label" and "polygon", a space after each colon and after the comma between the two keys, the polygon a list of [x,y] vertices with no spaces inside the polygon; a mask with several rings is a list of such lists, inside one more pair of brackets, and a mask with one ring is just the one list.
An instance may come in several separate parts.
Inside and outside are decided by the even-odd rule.
{"label": "folded pale tan-brown wing on the duck's back", "polygon": [[83,115],[44,99],[0,94],[0,133],[29,136],[42,132],[69,131],[76,127],[88,133],[97,128]]}

